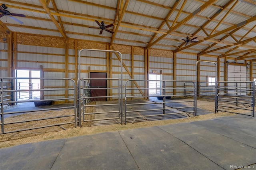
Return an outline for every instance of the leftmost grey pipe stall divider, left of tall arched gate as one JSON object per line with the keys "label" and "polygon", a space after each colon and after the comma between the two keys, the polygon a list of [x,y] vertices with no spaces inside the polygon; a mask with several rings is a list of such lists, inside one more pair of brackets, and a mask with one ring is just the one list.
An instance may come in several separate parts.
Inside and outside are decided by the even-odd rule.
{"label": "leftmost grey pipe stall divider, left of tall arched gate", "polygon": [[[44,85],[44,89],[4,89],[3,84],[4,84],[4,80],[8,80],[8,81],[17,81],[18,79],[40,79],[43,80],[44,83],[48,83],[51,84],[51,86],[47,87],[46,85]],[[69,83],[72,84],[72,88],[62,88],[59,87],[61,84],[63,84],[66,80],[69,81]],[[76,122],[76,85],[75,85],[75,81],[69,78],[28,78],[28,77],[18,77],[18,78],[13,78],[13,77],[4,77],[4,78],[0,78],[0,83],[1,83],[1,133],[0,134],[4,134],[4,133],[11,133],[11,132],[20,132],[20,131],[24,131],[24,130],[32,130],[32,129],[37,129],[37,128],[45,128],[45,127],[53,127],[53,126],[60,126],[60,125],[66,125],[66,124],[72,124],[74,123],[74,127],[76,127],[77,122]],[[13,83],[13,82],[12,82]],[[54,86],[56,85],[56,86]],[[43,92],[44,93],[44,97],[48,98],[48,99],[32,99],[32,100],[22,100],[22,101],[16,101],[16,100],[4,100],[3,99],[3,94],[4,93],[23,93],[23,92],[27,92],[27,93],[32,93],[32,92]],[[73,97],[64,97],[61,98],[59,96],[63,95],[65,91],[72,91],[74,96]],[[56,94],[52,94],[52,93],[56,93]],[[70,94],[72,95],[72,94]],[[17,95],[16,95],[17,96]],[[10,110],[10,111],[5,111],[5,109],[3,108],[4,105],[16,105],[18,103],[31,103],[34,102],[34,105],[36,106],[36,103],[39,103],[39,105],[44,103],[48,103],[48,105],[51,105],[54,102],[63,102],[63,101],[74,101],[74,105],[73,106],[66,106],[66,107],[62,107],[62,106],[58,106],[58,105],[53,105],[53,107],[48,107],[48,108],[44,108],[41,107],[40,109],[36,108],[36,109],[31,109],[29,110],[29,107],[26,109],[21,109],[21,110]],[[41,103],[41,104],[40,104]],[[50,104],[51,103],[51,104]],[[30,106],[31,107],[31,106]],[[7,122],[4,123],[4,115],[8,116],[8,115],[22,115],[22,116],[26,116],[26,114],[23,113],[29,113],[29,112],[38,112],[38,111],[53,111],[53,110],[59,110],[59,109],[74,109],[74,114],[67,114],[67,115],[60,115],[60,116],[52,116],[52,117],[42,117],[42,118],[38,118],[38,119],[30,119],[30,120],[22,120],[22,121],[11,121],[11,122]],[[44,115],[44,113],[38,113],[42,116],[46,116]],[[49,120],[49,119],[54,119],[54,120],[62,120],[61,118],[66,118],[66,117],[74,117],[74,121],[63,121],[61,123],[57,123],[57,124],[51,124],[51,125],[43,125],[43,126],[39,126],[39,127],[28,127],[28,128],[23,128],[23,129],[15,129],[15,130],[10,130],[10,131],[6,131],[5,130],[5,126],[4,125],[12,125],[12,124],[19,124],[19,123],[28,123],[28,122],[35,122],[35,121],[43,121],[43,120]],[[27,119],[27,118],[26,118]],[[43,123],[44,124],[44,123]]]}

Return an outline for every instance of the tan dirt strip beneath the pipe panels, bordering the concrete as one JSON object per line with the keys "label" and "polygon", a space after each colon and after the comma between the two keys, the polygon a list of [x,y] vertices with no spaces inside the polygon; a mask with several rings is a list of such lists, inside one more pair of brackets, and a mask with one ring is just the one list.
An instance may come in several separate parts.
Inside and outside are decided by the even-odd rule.
{"label": "tan dirt strip beneath the pipe panels, bordering the concrete", "polygon": [[[191,100],[191,99],[182,99],[184,101]],[[187,104],[187,103],[183,103]],[[191,105],[188,103],[188,105]],[[100,126],[93,126],[94,121],[89,121],[86,123],[82,123],[82,127],[74,128],[74,123],[68,124],[68,125],[61,125],[61,126],[54,126],[54,127],[47,127],[47,128],[40,128],[40,129],[34,129],[34,130],[26,130],[22,132],[13,132],[8,134],[0,134],[0,148],[9,147],[9,146],[16,146],[20,144],[25,143],[31,143],[31,142],[39,142],[44,140],[53,140],[53,139],[60,139],[60,138],[70,138],[74,136],[81,136],[81,135],[88,135],[88,134],[96,134],[101,132],[107,132],[107,131],[115,131],[115,130],[127,130],[131,128],[140,128],[140,127],[152,127],[152,126],[159,126],[159,125],[168,125],[173,123],[182,123],[182,122],[192,122],[192,121],[202,121],[207,119],[213,119],[216,117],[223,117],[223,116],[230,116],[234,115],[233,113],[217,113],[214,114],[214,101],[206,101],[206,100],[198,100],[197,106],[200,109],[205,109],[206,111],[210,111],[213,114],[208,115],[200,115],[197,117],[188,117],[187,119],[169,119],[169,120],[161,120],[161,121],[144,121],[144,122],[135,122],[133,124],[128,123],[127,125],[120,125],[120,124],[114,124],[114,125],[100,125]],[[89,107],[92,110],[88,110],[88,112],[95,111],[94,107]],[[36,114],[36,115],[35,115]],[[60,109],[58,110],[58,113],[55,111],[39,111],[38,113],[28,113],[24,115],[17,115],[13,117],[8,117],[5,120],[5,123],[8,122],[14,122],[14,121],[22,121],[22,120],[30,120],[33,119],[33,117],[40,118],[42,115],[49,115],[48,117],[54,116],[63,116],[63,115],[73,115],[74,109]],[[94,119],[94,115],[86,115],[87,120]],[[28,123],[19,123],[18,125],[15,124],[15,127],[13,125],[5,125],[5,129],[7,128],[8,131],[12,130],[14,128],[28,128],[31,125],[49,125],[52,124],[58,124],[60,122],[72,122],[74,121],[74,116],[72,117],[64,117],[58,119],[58,121],[51,119],[51,120],[42,120],[42,121],[33,121]],[[39,124],[39,125],[38,125]],[[66,130],[64,130],[66,129]]]}

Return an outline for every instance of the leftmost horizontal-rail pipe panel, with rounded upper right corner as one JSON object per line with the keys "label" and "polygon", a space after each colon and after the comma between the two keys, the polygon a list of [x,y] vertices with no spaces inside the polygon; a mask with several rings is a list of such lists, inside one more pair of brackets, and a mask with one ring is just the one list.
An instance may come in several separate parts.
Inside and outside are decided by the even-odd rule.
{"label": "leftmost horizontal-rail pipe panel, with rounded upper right corner", "polygon": [[[6,133],[11,133],[11,132],[20,132],[20,131],[24,131],[24,130],[33,130],[33,129],[38,129],[38,128],[45,128],[45,127],[53,127],[53,126],[59,126],[59,125],[66,125],[66,124],[73,124],[74,123],[74,127],[76,127],[77,125],[77,119],[76,119],[76,85],[73,79],[69,79],[69,78],[28,78],[28,77],[18,77],[18,78],[13,78],[13,77],[4,77],[4,78],[0,78],[0,86],[3,87],[4,84],[4,80],[7,79],[9,80],[9,82],[12,82],[12,84],[17,83],[17,80],[20,79],[38,79],[38,80],[42,80],[45,81],[47,80],[47,83],[52,83],[52,84],[56,84],[56,85],[60,85],[63,83],[63,81],[68,81],[68,83],[72,83],[72,87],[73,88],[59,88],[58,86],[56,86],[56,88],[54,88],[54,86],[52,86],[51,88],[47,88],[47,89],[14,89],[14,88],[9,88],[9,89],[0,89],[0,93],[1,93],[1,106],[3,105],[7,105],[7,104],[17,104],[17,103],[28,103],[28,102],[47,102],[47,101],[66,101],[66,100],[72,100],[74,101],[74,105],[73,106],[66,106],[66,107],[51,107],[51,108],[41,108],[41,109],[26,109],[26,110],[18,110],[16,109],[16,111],[5,111],[3,109],[3,107],[1,107],[1,132],[0,134],[6,134]],[[44,83],[44,82],[43,82]],[[59,93],[62,93],[63,95],[65,95],[65,93],[68,94],[69,91],[71,91],[74,94],[74,97],[63,97],[63,98],[58,98],[58,95],[50,95],[47,96],[48,99],[42,99],[42,100],[23,100],[23,101],[6,101],[3,100],[2,94],[3,93],[23,93],[23,92],[29,92],[32,93],[34,91],[41,91],[42,95],[44,95],[44,93],[46,93],[46,91],[59,91]],[[7,115],[13,115],[13,114],[22,114],[24,116],[26,116],[26,113],[32,113],[32,112],[38,112],[38,111],[53,111],[53,110],[60,110],[60,109],[74,109],[74,114],[66,114],[66,115],[56,115],[55,117],[47,117],[44,113],[39,113],[40,114],[40,118],[38,119],[27,119],[24,121],[12,121],[12,122],[6,122],[4,121],[4,116]],[[73,121],[66,121],[63,120],[62,118],[67,118],[67,117],[73,117]],[[16,130],[8,130],[6,128],[8,128],[8,125],[15,125],[15,124],[19,124],[19,123],[28,123],[28,122],[38,122],[38,121],[44,121],[44,120],[50,120],[50,119],[54,119],[56,121],[62,121],[58,124],[52,124],[52,125],[47,125],[45,122],[45,126],[36,126],[36,124],[31,125],[30,128],[25,128],[25,129],[20,129],[18,126],[16,126]],[[51,123],[49,123],[51,124]]]}

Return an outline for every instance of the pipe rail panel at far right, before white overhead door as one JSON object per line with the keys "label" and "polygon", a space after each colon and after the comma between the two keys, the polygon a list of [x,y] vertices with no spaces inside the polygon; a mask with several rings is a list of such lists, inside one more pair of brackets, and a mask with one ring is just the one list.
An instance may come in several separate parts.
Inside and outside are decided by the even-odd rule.
{"label": "pipe rail panel at far right, before white overhead door", "polygon": [[217,83],[216,112],[224,111],[254,117],[254,81],[219,81]]}

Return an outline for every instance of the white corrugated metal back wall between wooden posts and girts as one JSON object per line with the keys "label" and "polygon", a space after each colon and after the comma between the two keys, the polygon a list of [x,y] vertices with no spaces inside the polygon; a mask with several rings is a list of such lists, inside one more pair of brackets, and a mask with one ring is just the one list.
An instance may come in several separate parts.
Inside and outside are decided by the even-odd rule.
{"label": "white corrugated metal back wall between wooden posts and girts", "polygon": [[[72,47],[72,46],[71,46]],[[95,47],[96,48],[96,47]],[[102,48],[99,48],[102,49]],[[131,49],[127,46],[127,49]],[[7,43],[0,43],[0,77],[7,76]],[[77,52],[79,52],[78,49]],[[131,51],[124,52],[122,51],[123,56],[123,85],[128,79],[145,79],[145,56],[144,55],[133,55]],[[120,78],[120,61],[115,54],[110,54],[110,59],[107,59],[107,53],[101,51],[83,51],[81,53],[81,77],[88,78],[89,67],[91,72],[107,72],[109,62],[112,66],[109,68],[111,78]],[[44,77],[47,78],[63,78],[65,77],[65,49],[64,47],[43,47],[36,45],[17,45],[17,65],[16,69],[31,69],[36,70],[40,69],[42,65],[44,70]],[[134,62],[132,63],[132,59]],[[200,56],[200,60],[212,61],[217,63],[217,57],[205,57]],[[195,81],[196,75],[196,55],[177,53],[176,54],[176,80],[185,80],[185,81]],[[234,59],[227,59],[228,62],[233,62]],[[249,63],[249,62],[247,62]],[[225,80],[224,67],[225,59],[220,58],[220,80]],[[125,69],[126,67],[126,69]],[[76,63],[75,63],[75,49],[73,47],[68,49],[68,78],[75,79],[76,74]],[[215,77],[215,67],[212,64],[200,63],[200,82],[207,84],[207,76]],[[173,80],[173,58],[172,57],[162,57],[162,56],[149,56],[149,73],[156,71],[157,74],[162,73],[162,80]],[[250,67],[248,67],[248,76],[250,76]],[[132,77],[133,76],[133,77]],[[253,62],[252,65],[252,77],[256,78],[256,62]],[[249,79],[248,79],[249,80]],[[69,87],[72,86],[72,83],[69,82]],[[44,88],[47,87],[65,87],[65,82],[58,81],[44,81]],[[112,83],[113,87],[118,87],[117,81]],[[135,85],[133,85],[135,87]],[[172,87],[173,84],[169,83],[167,87]],[[176,83],[176,87],[183,87],[184,83]],[[202,85],[203,86],[203,85]],[[132,87],[132,84],[129,83],[128,87]],[[145,83],[140,81],[138,82],[138,87],[144,88]],[[142,90],[145,93],[144,90]],[[117,90],[112,91],[112,95],[116,95]],[[173,91],[168,91],[167,93],[172,94]],[[176,93],[183,93],[183,91],[176,91]],[[50,95],[58,95],[60,98],[63,97],[63,92],[46,92],[45,99]],[[71,91],[69,96],[74,95]],[[129,93],[128,95],[131,95]],[[138,91],[134,95],[141,95]],[[168,94],[167,94],[168,95]]]}

